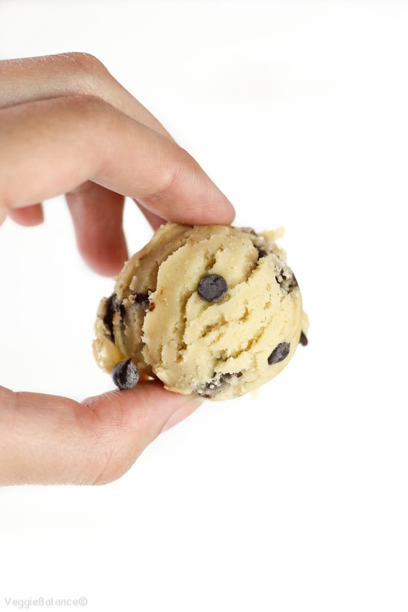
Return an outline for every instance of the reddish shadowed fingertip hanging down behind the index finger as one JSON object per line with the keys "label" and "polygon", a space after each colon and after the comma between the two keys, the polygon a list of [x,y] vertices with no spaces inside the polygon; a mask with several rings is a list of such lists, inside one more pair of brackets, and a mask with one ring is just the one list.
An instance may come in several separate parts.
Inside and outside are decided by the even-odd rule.
{"label": "reddish shadowed fingertip hanging down behind the index finger", "polygon": [[122,217],[124,196],[87,181],[67,193],[78,250],[98,274],[119,274],[128,258]]}

